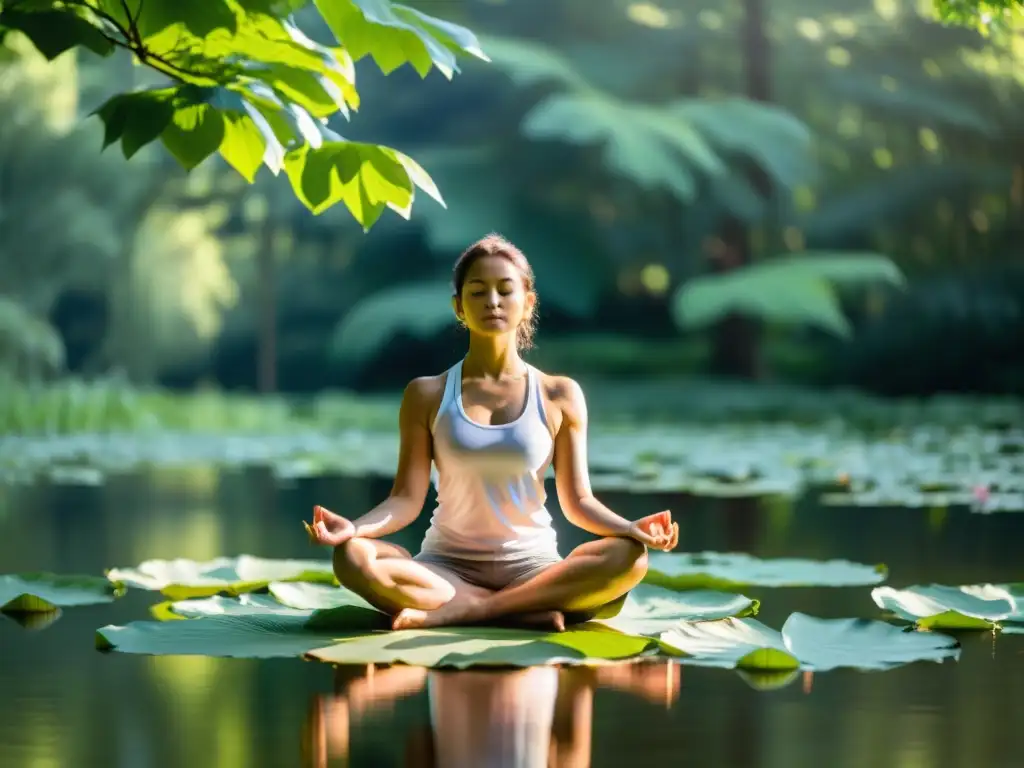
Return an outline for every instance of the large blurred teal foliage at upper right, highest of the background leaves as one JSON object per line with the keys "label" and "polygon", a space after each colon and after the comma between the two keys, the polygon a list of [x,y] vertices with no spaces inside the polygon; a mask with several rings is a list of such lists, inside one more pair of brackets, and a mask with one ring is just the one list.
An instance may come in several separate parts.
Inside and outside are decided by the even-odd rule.
{"label": "large blurred teal foliage at upper right, highest of the background leaves", "polygon": [[679,99],[651,105],[595,88],[554,51],[524,40],[485,38],[492,61],[520,86],[555,85],[525,115],[524,135],[603,147],[612,172],[648,190],[691,203],[709,182],[725,207],[749,218],[763,201],[744,183],[733,159],[753,160],[774,182],[791,187],[813,173],[806,126],[772,104],[742,98]]}

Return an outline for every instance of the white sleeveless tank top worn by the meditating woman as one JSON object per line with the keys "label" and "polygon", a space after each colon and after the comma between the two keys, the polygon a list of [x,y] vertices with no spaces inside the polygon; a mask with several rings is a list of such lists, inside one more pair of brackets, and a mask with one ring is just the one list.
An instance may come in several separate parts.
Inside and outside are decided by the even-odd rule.
{"label": "white sleeveless tank top worn by the meditating woman", "polygon": [[462,404],[462,360],[449,369],[431,427],[437,508],[424,553],[467,560],[557,556],[544,473],[554,440],[544,418],[541,376],[526,366],[526,401],[508,424],[471,421]]}

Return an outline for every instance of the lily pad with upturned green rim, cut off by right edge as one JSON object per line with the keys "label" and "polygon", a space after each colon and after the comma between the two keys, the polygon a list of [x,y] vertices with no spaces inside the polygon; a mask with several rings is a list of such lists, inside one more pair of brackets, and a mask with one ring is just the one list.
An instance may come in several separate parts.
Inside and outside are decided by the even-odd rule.
{"label": "lily pad with upturned green rim, cut off by right edge", "polygon": [[1004,622],[1024,623],[1024,585],[879,587],[871,599],[922,629],[989,630]]}

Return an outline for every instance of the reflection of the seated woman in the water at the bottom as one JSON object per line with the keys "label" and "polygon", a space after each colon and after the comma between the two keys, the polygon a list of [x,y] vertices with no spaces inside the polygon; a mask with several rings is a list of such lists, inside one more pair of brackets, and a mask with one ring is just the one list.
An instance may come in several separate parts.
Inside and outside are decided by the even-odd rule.
{"label": "reflection of the seated woman in the water at the bottom", "polygon": [[666,662],[583,668],[447,671],[339,668],[335,692],[312,698],[303,754],[310,768],[348,765],[353,732],[426,689],[426,724],[406,729],[410,768],[583,768],[591,764],[594,692],[623,691],[666,708],[682,667]]}

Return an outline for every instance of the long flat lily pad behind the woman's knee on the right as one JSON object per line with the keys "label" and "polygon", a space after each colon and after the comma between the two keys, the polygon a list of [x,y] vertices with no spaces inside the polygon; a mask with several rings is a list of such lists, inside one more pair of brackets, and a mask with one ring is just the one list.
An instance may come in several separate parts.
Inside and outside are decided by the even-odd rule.
{"label": "long flat lily pad behind the woman's knee on the right", "polygon": [[848,560],[762,560],[743,553],[652,552],[644,581],[675,590],[735,591],[744,587],[859,587],[886,580],[885,565]]}

